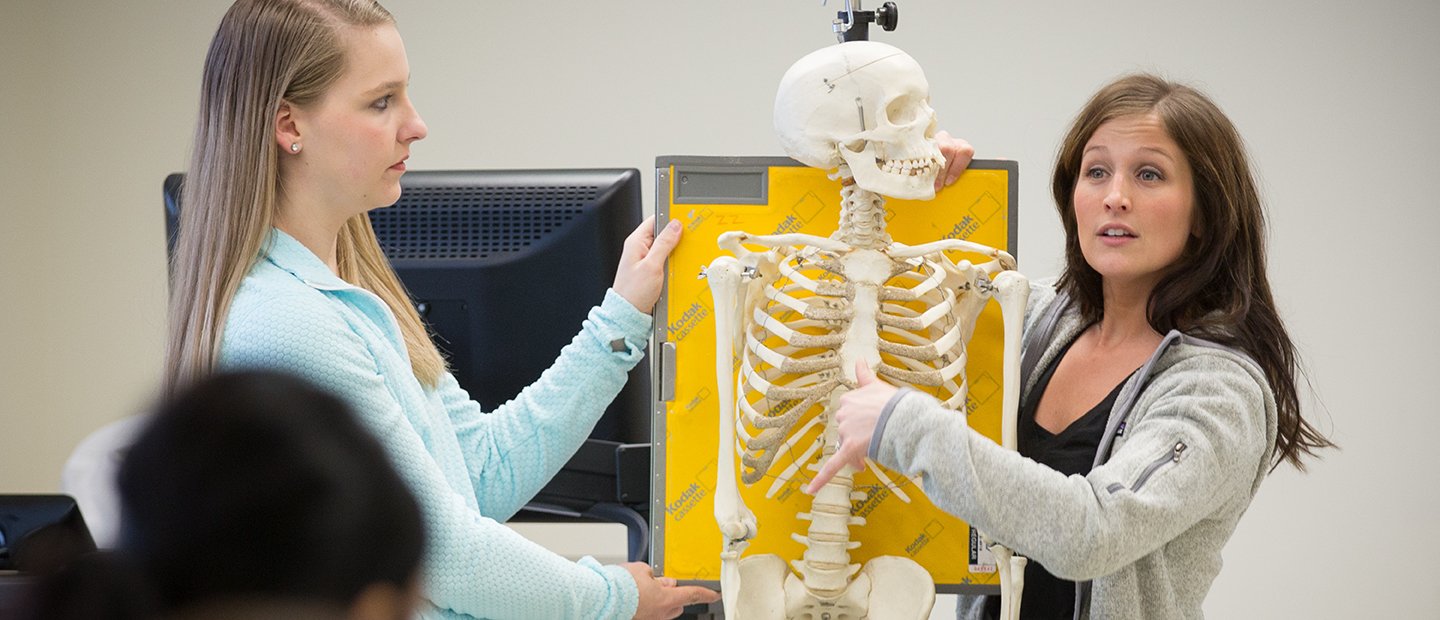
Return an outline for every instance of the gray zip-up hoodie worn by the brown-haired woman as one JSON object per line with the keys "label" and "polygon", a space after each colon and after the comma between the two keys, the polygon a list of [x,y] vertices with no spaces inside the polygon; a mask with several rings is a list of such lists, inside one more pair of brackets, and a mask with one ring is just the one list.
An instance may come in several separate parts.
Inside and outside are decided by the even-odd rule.
{"label": "gray zip-up hoodie worn by the brown-haired woman", "polygon": [[[1024,398],[1084,331],[1050,285],[1031,286]],[[999,447],[927,394],[901,390],[871,443],[876,462],[924,476],[942,509],[1080,581],[1077,619],[1198,619],[1220,550],[1270,469],[1274,394],[1256,363],[1178,331],[1120,390],[1086,476]],[[981,617],[960,601],[960,617]]]}

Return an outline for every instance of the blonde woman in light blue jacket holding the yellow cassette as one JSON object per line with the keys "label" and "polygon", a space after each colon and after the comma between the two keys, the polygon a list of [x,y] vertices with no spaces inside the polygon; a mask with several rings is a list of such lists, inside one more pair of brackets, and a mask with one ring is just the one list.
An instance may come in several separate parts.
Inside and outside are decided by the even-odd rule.
{"label": "blonde woman in light blue jacket holding the yellow cassette", "polygon": [[217,370],[346,397],[415,492],[432,617],[672,617],[717,596],[645,564],[570,562],[500,522],[585,440],[647,342],[665,256],[647,220],[556,364],[481,411],[446,371],[366,211],[396,201],[426,127],[393,17],[370,0],[240,0],[204,62],[173,265],[167,391]]}

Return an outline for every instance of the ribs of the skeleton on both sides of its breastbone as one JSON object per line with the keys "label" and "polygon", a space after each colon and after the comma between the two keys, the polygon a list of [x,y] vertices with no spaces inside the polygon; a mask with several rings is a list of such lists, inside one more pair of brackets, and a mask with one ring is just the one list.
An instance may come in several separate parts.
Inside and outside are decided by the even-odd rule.
{"label": "ribs of the skeleton on both sides of its breastbone", "polygon": [[[739,351],[736,426],[746,485],[788,466],[768,495],[814,460],[822,413],[844,391],[838,388],[854,387],[841,371],[838,348],[854,319],[855,283],[841,273],[840,256],[808,246],[772,250],[778,273],[756,282],[757,301],[744,309],[750,321]],[[969,276],[969,263],[955,266],[940,255],[896,262],[870,327],[878,338],[878,375],[949,407],[963,404],[965,344],[979,309],[962,302],[973,289]]]}

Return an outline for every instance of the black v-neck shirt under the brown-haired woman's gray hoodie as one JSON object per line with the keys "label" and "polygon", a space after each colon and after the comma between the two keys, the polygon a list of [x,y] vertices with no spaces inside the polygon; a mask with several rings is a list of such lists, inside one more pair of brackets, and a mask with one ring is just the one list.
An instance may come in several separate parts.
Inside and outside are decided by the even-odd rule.
{"label": "black v-neck shirt under the brown-haired woman's gray hoodie", "polygon": [[[1125,387],[1122,380],[1110,393],[1080,416],[1060,433],[1050,433],[1035,423],[1035,410],[1040,409],[1040,398],[1050,387],[1060,360],[1070,352],[1074,341],[1066,345],[1056,355],[1056,360],[1044,370],[1035,381],[1028,401],[1021,403],[1020,419],[1015,424],[1015,443],[1022,456],[1045,465],[1067,476],[1090,473],[1094,465],[1094,455],[1100,449],[1100,439],[1104,436],[1104,424],[1110,419],[1110,409],[1115,398]],[[1129,380],[1129,377],[1126,377]],[[985,616],[999,617],[999,597],[992,596],[985,601]],[[1025,564],[1025,590],[1020,604],[1020,617],[1024,620],[1071,620],[1074,617],[1076,583],[1061,580],[1050,574],[1040,562],[1031,560]]]}

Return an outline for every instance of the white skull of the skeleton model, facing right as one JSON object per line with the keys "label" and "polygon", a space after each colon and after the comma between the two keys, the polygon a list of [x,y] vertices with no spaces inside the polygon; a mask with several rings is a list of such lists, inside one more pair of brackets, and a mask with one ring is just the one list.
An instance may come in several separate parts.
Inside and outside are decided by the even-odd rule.
{"label": "white skull of the skeleton model, facing right", "polygon": [[945,165],[924,72],[884,43],[832,45],[791,65],[775,95],[775,132],[802,164],[844,161],[863,190],[896,199],[933,199]]}

